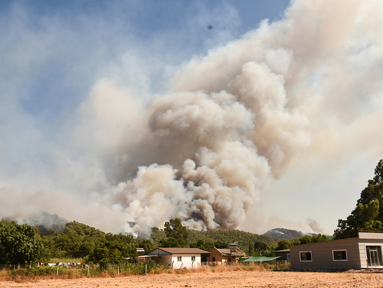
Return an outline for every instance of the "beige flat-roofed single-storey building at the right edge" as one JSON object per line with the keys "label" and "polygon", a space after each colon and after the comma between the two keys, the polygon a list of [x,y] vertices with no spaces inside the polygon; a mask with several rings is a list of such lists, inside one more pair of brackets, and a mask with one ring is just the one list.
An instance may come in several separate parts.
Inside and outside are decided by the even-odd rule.
{"label": "beige flat-roofed single-storey building at the right edge", "polygon": [[358,237],[290,246],[294,269],[383,268],[383,233],[359,231]]}

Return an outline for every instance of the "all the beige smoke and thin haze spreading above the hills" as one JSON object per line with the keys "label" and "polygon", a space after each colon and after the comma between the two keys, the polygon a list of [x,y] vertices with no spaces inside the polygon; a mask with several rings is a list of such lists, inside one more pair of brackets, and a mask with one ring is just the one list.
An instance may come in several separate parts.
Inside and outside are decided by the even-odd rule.
{"label": "all the beige smoke and thin haze spreading above the hills", "polygon": [[[43,210],[144,235],[175,217],[196,230],[238,229],[294,169],[341,167],[362,152],[377,162],[382,11],[381,1],[293,1],[281,20],[239,39],[220,34],[206,53],[169,64],[158,91],[153,66],[166,62],[128,50],[94,76],[57,135],[23,132],[36,147],[28,161],[3,156],[17,165],[1,167],[0,217],[22,221]],[[254,226],[265,228],[264,212]],[[322,232],[310,217],[309,227]]]}

